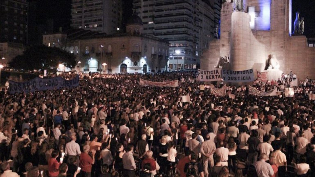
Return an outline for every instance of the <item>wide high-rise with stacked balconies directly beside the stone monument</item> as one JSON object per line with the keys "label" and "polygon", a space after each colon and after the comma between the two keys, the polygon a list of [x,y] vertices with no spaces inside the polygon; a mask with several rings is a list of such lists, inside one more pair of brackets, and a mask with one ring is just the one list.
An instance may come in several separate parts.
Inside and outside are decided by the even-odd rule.
{"label": "wide high-rise with stacked balconies directly beside the stone monument", "polygon": [[134,0],[143,32],[169,41],[169,70],[198,66],[203,49],[216,38],[219,0]]}

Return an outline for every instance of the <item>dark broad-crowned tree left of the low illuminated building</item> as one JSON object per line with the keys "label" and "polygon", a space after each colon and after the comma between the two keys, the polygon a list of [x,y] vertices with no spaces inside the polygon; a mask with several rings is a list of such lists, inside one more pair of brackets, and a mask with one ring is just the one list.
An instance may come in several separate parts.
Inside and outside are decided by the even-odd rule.
{"label": "dark broad-crowned tree left of the low illuminated building", "polygon": [[67,68],[74,68],[77,64],[76,57],[57,47],[45,45],[28,47],[22,55],[18,55],[9,62],[14,69],[56,69],[59,64]]}

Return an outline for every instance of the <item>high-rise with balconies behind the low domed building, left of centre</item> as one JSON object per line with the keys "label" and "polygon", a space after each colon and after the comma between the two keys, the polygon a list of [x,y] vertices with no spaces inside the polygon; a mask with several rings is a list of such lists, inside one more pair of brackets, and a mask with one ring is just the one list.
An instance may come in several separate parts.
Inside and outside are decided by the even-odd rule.
{"label": "high-rise with balconies behind the low domed building, left of centre", "polygon": [[72,0],[71,27],[113,34],[122,28],[121,0]]}

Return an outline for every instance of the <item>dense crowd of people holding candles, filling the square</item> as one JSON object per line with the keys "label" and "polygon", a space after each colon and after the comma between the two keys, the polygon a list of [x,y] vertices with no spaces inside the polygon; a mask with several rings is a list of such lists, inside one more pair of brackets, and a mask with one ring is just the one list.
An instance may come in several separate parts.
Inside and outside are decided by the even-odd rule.
{"label": "dense crowd of people holding candles, filling the square", "polygon": [[[140,78],[179,86],[140,86]],[[253,96],[247,86],[214,96],[200,84],[190,71],[81,75],[76,88],[14,95],[2,89],[0,177],[315,174],[314,81],[295,86],[294,97]],[[254,86],[281,91],[277,82]]]}

